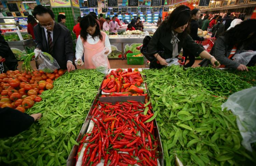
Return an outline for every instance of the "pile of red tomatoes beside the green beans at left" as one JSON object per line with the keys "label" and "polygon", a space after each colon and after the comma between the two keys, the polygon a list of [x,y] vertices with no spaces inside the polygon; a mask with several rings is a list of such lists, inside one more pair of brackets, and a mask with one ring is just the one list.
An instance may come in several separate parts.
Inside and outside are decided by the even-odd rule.
{"label": "pile of red tomatoes beside the green beans at left", "polygon": [[40,102],[43,91],[53,89],[53,80],[66,71],[59,69],[53,73],[43,71],[7,71],[0,74],[0,107],[10,107],[25,112],[34,102]]}

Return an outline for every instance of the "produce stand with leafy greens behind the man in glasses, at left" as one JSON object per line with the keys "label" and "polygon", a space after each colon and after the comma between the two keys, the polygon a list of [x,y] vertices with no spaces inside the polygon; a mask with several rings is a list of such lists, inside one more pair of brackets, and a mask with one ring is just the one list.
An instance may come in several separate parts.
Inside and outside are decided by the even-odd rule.
{"label": "produce stand with leafy greens behind the man in glasses, at left", "polygon": [[29,54],[29,52],[27,52],[26,47],[35,47],[33,39],[23,41],[7,41],[7,43],[9,44],[9,47],[11,48],[13,54],[16,56],[17,59],[20,59],[20,57]]}

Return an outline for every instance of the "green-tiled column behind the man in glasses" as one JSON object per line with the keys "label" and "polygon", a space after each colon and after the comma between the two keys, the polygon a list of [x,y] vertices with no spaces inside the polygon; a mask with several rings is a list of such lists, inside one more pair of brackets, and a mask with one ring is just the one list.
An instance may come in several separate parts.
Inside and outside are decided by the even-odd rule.
{"label": "green-tiled column behind the man in glasses", "polygon": [[[73,41],[76,39],[75,34],[73,34],[72,30],[74,25],[77,23],[77,17],[81,16],[79,1],[78,0],[70,0],[69,2],[65,1],[65,4],[56,4],[56,2],[51,2],[52,10],[55,15],[55,21],[57,21],[57,17],[59,14],[64,14],[66,16],[66,26],[70,30],[72,34]],[[74,50],[75,43],[73,42]]]}

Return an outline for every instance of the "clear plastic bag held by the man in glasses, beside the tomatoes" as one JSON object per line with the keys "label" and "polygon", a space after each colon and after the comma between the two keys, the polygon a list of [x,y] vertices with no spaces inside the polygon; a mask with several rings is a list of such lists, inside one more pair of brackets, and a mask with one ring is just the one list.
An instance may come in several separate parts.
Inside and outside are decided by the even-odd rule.
{"label": "clear plastic bag held by the man in glasses, beside the tomatoes", "polygon": [[35,64],[38,70],[43,70],[47,73],[52,73],[54,70],[59,69],[59,64],[50,54],[35,49]]}

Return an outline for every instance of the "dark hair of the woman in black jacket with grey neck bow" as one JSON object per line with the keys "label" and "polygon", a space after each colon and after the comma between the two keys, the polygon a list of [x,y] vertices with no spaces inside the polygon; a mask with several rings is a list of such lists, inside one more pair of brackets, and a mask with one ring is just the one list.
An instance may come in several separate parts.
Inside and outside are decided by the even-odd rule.
{"label": "dark hair of the woman in black jacket with grey neck bow", "polygon": [[188,23],[185,31],[179,34],[180,37],[185,37],[189,32],[190,19],[190,8],[186,5],[180,5],[172,11],[169,19],[167,21],[163,21],[160,26],[163,26],[166,30],[171,31]]}

